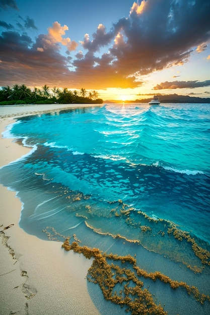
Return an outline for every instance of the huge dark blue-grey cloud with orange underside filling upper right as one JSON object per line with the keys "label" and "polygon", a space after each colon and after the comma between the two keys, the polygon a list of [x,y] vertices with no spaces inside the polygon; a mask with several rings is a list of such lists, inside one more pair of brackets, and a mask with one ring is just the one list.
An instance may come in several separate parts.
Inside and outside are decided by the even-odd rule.
{"label": "huge dark blue-grey cloud with orange underside filling upper right", "polygon": [[[110,79],[118,73],[114,86],[120,87],[129,78],[130,87],[136,87],[141,75],[182,65],[196,47],[199,51],[206,48],[203,43],[210,39],[209,13],[208,0],[134,2],[129,16],[113,24],[109,32],[100,25],[92,37],[85,35],[81,43],[87,52],[75,60],[76,72],[81,73],[85,65],[90,73],[101,70],[107,77],[109,73]],[[95,57],[94,52],[106,45],[107,53]]]}

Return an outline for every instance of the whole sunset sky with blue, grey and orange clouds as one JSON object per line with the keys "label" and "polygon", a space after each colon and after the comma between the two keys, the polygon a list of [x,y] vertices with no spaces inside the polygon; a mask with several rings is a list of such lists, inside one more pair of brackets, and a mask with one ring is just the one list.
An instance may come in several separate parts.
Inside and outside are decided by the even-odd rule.
{"label": "whole sunset sky with blue, grey and orange clouds", "polygon": [[210,97],[209,0],[0,0],[0,87]]}

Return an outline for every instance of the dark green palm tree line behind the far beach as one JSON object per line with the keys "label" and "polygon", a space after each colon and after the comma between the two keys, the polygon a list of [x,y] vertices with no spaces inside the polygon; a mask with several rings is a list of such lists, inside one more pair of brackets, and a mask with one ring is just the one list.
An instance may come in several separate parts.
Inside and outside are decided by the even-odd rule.
{"label": "dark green palm tree line behind the far beach", "polygon": [[50,89],[46,84],[41,88],[30,89],[25,84],[15,84],[12,88],[2,87],[0,90],[0,105],[20,104],[71,104],[71,103],[103,103],[98,98],[97,91],[88,92],[86,89],[71,91],[67,88]]}

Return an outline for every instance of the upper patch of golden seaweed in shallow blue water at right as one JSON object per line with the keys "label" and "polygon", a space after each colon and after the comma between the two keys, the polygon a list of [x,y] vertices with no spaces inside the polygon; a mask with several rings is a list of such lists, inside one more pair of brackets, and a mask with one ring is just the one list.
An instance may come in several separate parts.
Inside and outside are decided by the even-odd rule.
{"label": "upper patch of golden seaweed in shallow blue water at right", "polygon": [[[123,219],[121,224],[128,225],[133,233],[127,233],[129,237],[121,238],[131,242],[130,239],[134,235],[135,243],[141,244],[149,251],[181,262],[194,273],[201,273],[205,266],[210,266],[210,251],[207,243],[203,242],[199,245],[198,239],[192,237],[189,232],[179,229],[175,223],[158,217],[150,217],[140,210],[134,211],[133,207],[129,207],[120,199],[112,203],[115,207],[111,213],[114,213],[117,219]],[[120,235],[115,237],[120,237]]]}

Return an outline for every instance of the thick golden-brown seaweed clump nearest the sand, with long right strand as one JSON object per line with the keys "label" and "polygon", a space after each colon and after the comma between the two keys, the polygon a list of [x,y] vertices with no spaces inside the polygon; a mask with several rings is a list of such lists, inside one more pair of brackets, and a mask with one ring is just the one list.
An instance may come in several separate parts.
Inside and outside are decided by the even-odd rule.
{"label": "thick golden-brown seaweed clump nearest the sand, with long right strand", "polygon": [[210,301],[209,296],[201,294],[194,286],[190,287],[185,282],[174,281],[160,272],[147,273],[136,266],[136,259],[130,255],[105,254],[96,248],[79,246],[77,242],[69,244],[69,238],[64,241],[62,247],[66,251],[73,250],[83,254],[88,259],[93,258],[93,264],[87,275],[88,281],[99,284],[106,300],[126,307],[125,311],[133,315],[167,314],[160,304],[155,303],[149,290],[144,288],[144,282],[140,280],[142,277],[153,281],[160,280],[169,284],[172,289],[181,287],[201,304],[205,300]]}

